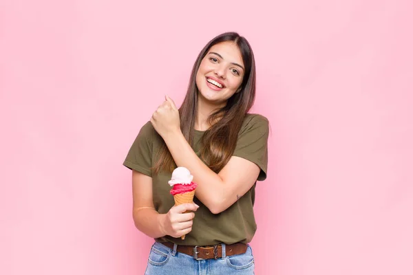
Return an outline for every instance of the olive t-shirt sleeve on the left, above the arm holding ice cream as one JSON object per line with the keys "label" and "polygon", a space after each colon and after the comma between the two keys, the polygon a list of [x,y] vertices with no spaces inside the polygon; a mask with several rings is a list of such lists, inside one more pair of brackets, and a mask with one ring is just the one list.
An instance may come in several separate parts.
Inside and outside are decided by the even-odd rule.
{"label": "olive t-shirt sleeve on the left, above the arm holding ice cream", "polygon": [[140,129],[138,136],[132,144],[123,165],[142,174],[152,177],[152,143],[153,126],[147,122]]}

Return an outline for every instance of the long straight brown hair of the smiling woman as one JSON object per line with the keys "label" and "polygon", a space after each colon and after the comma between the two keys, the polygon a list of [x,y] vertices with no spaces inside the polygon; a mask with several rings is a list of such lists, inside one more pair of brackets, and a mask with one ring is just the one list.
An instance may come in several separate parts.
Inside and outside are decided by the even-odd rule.
{"label": "long straight brown hair of the smiling woman", "polygon": [[[198,107],[198,87],[195,82],[196,74],[202,59],[207,55],[209,49],[213,45],[225,41],[233,41],[238,46],[242,55],[242,61],[244,61],[245,72],[240,91],[228,99],[225,107],[222,107],[222,109],[215,111],[215,113],[209,116],[208,122],[212,126],[205,131],[202,137],[201,157],[215,173],[218,173],[225,166],[233,154],[242,121],[246,113],[248,113],[253,106],[255,100],[254,55],[251,46],[244,37],[236,32],[226,32],[216,36],[205,45],[193,65],[187,95],[179,108],[181,131],[185,139],[192,145],[193,128],[195,126]],[[160,170],[172,172],[174,168],[176,168],[176,164],[173,161],[167,145],[163,142],[158,153],[156,164],[153,167],[153,173],[159,173]]]}

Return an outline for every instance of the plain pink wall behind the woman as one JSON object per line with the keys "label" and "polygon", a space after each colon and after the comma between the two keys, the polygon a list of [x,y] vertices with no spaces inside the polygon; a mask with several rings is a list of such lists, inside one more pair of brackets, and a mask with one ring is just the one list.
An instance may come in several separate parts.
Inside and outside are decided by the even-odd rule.
{"label": "plain pink wall behind the woman", "polygon": [[143,274],[123,159],[213,36],[271,121],[257,274],[413,274],[412,2],[1,1],[0,274]]}

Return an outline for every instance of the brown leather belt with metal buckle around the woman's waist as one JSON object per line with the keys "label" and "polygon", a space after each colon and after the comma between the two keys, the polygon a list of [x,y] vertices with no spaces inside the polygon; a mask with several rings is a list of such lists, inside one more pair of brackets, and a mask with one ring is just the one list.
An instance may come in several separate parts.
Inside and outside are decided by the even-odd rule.
{"label": "brown leather belt with metal buckle around the woman's waist", "polygon": [[[162,245],[173,249],[173,243],[166,242]],[[246,252],[245,243],[234,243],[232,245],[225,245],[225,255],[232,256],[237,254],[244,254]],[[218,259],[222,257],[222,245],[198,246],[198,245],[178,245],[177,252],[193,256],[194,259]]]}

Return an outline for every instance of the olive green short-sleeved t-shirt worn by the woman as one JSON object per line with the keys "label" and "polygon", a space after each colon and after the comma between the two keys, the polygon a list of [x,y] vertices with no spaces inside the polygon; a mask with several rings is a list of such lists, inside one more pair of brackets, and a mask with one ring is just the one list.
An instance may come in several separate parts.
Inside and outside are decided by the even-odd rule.
{"label": "olive green short-sleeved t-shirt worn by the woman", "polygon": [[[204,131],[195,130],[192,148],[198,157],[200,157],[202,135]],[[266,179],[267,140],[268,120],[262,115],[247,114],[238,134],[233,155],[257,164],[261,168],[257,179],[260,181]],[[160,144],[162,144],[162,137],[153,129],[151,122],[147,122],[140,129],[123,165],[152,177],[153,204],[159,213],[165,214],[175,203],[173,196],[169,193],[171,186],[168,181],[171,179],[171,173],[151,173]],[[195,195],[194,202],[200,208],[195,212],[192,231],[186,235],[184,240],[164,236],[156,241],[171,241],[178,245],[249,243],[257,229],[253,212],[254,201],[255,184],[228,209],[219,214],[213,214]]]}

